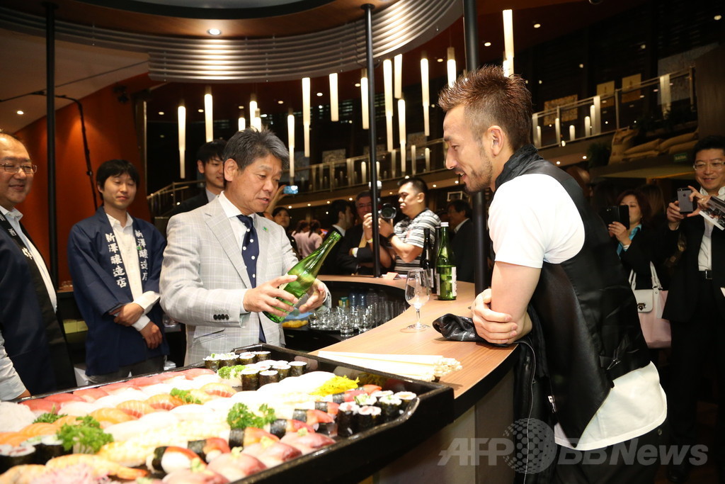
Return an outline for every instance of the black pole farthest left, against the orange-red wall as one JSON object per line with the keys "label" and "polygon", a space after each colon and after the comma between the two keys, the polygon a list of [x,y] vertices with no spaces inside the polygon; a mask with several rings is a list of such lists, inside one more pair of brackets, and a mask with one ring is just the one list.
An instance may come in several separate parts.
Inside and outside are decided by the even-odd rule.
{"label": "black pole farthest left, against the orange-red wall", "polygon": [[58,234],[55,196],[55,9],[56,4],[43,2],[46,8],[46,125],[48,131],[48,242],[50,278],[58,287]]}

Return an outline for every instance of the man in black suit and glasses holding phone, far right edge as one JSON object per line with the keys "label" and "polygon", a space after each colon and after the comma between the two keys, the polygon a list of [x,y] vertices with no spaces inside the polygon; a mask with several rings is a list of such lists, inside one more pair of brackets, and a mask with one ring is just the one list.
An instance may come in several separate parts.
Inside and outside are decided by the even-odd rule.
{"label": "man in black suit and glasses holding phone, far right edge", "polygon": [[[725,198],[725,136],[708,136],[695,145],[695,179],[700,184],[693,197]],[[671,321],[672,356],[668,408],[673,443],[689,454],[668,469],[671,482],[687,480],[689,468],[698,464],[695,412],[700,375],[705,358],[712,358],[718,382],[716,443],[710,455],[718,460],[720,482],[725,480],[725,231],[717,229],[699,210],[679,211],[679,202],[667,208],[668,226],[663,240],[674,253],[680,235],[687,247],[674,268],[663,317]],[[700,454],[700,459],[702,455]]]}

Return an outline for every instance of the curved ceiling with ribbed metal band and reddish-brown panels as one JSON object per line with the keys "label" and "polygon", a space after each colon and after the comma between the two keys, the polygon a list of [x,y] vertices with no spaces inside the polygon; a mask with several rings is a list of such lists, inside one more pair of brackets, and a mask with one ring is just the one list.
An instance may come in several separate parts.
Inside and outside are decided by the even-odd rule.
{"label": "curved ceiling with ribbed metal band and reddish-brown panels", "polygon": [[[251,9],[247,10],[247,17],[239,15],[235,9],[239,10],[240,5],[255,8],[262,1],[269,6],[270,1],[275,0],[155,1],[156,4],[151,1],[128,0],[55,0],[57,94],[81,98],[101,87],[123,82],[133,75],[149,73],[154,66],[159,72],[157,78],[172,79],[168,70],[171,65],[169,60],[172,57],[186,57],[187,60],[198,62],[199,56],[190,53],[188,49],[189,46],[199,44],[207,46],[207,49],[209,46],[222,46],[229,51],[225,54],[232,56],[227,59],[229,65],[234,65],[234,62],[239,64],[236,66],[239,67],[236,75],[241,75],[242,81],[218,79],[217,82],[236,83],[236,86],[240,86],[239,82],[244,82],[254,86],[250,84],[251,79],[257,79],[255,83],[267,83],[270,78],[294,79],[268,83],[270,88],[276,86],[275,89],[257,90],[260,107],[264,102],[268,105],[265,109],[270,111],[286,109],[289,105],[287,103],[291,102],[286,97],[291,94],[285,93],[299,94],[298,84],[302,74],[313,76],[313,89],[316,89],[315,83],[319,81],[322,84],[323,77],[326,81],[327,73],[347,69],[347,74],[341,74],[340,78],[340,99],[350,99],[344,96],[359,95],[359,91],[355,94],[352,83],[355,82],[355,76],[359,77],[358,69],[364,65],[364,12],[360,8],[362,4],[373,4],[376,7],[373,10],[373,32],[378,35],[375,42],[376,60],[392,57],[392,54],[398,52],[405,52],[410,59],[420,58],[422,52],[427,52],[429,58],[439,60],[431,65],[431,76],[435,76],[444,75],[436,74],[434,70],[444,68],[441,61],[445,57],[447,46],[455,46],[461,57],[464,52],[463,25],[460,21],[463,2],[460,0],[283,0],[287,3],[270,7],[270,11],[266,12],[270,15],[262,18],[249,18]],[[182,6],[162,5],[159,3],[162,1]],[[631,8],[632,4],[642,1],[644,0],[605,1],[600,5],[591,5],[585,0],[502,0],[495,4],[478,0],[481,62],[496,62],[500,59],[503,50],[502,8],[514,9],[515,46],[517,49],[526,49]],[[204,15],[181,16],[183,4],[198,9],[199,5],[205,4],[202,2],[216,2],[218,5],[223,2],[229,8],[204,8],[201,9]],[[45,115],[45,100],[39,96],[29,96],[45,88],[45,3],[43,0],[1,2],[0,44],[4,48],[0,49],[0,65],[12,65],[14,69],[13,75],[6,71],[3,82],[0,83],[0,128],[10,132],[17,131]],[[113,5],[125,9],[114,8]],[[415,6],[418,7],[417,12],[411,8]],[[162,7],[170,9],[171,16],[131,11],[131,7],[135,10],[141,10],[141,7]],[[289,9],[292,7],[305,9],[290,13]],[[257,11],[257,14],[260,12]],[[400,17],[394,15],[394,12],[402,12],[401,15],[407,16],[402,17],[405,20],[399,21]],[[423,15],[424,21],[418,22],[415,15]],[[567,20],[563,21],[564,19]],[[572,19],[576,19],[576,22]],[[534,22],[541,22],[544,28],[531,28]],[[387,30],[394,33],[394,36],[384,40],[381,32],[395,23],[398,24],[398,30]],[[207,30],[212,27],[220,28],[222,35],[211,38]],[[423,44],[426,38],[432,40]],[[132,41],[129,42],[129,39]],[[347,58],[342,61],[339,60],[339,52],[325,54],[324,51],[325,44],[328,47],[337,46],[339,49],[339,39],[348,42]],[[316,46],[319,48],[313,49],[312,43],[318,41],[320,44]],[[484,47],[484,42],[490,46]],[[244,44],[249,49],[247,52],[240,52],[240,45]],[[281,60],[283,56],[276,57],[278,51],[282,50],[281,46],[292,46],[286,52],[288,59],[291,58],[289,65]],[[272,59],[273,57],[276,59]],[[278,62],[276,67],[269,67],[270,60]],[[416,62],[407,61],[404,63],[404,70],[411,71],[410,75],[404,72],[404,78],[410,79],[409,82],[419,78],[419,73],[416,75],[414,72],[417,68],[415,64]],[[293,68],[297,69],[297,74],[292,72]],[[163,72],[164,69],[167,71]],[[315,75],[320,75],[317,81]],[[188,72],[178,74],[178,78],[185,81],[190,77]],[[196,79],[196,82],[210,81]],[[344,92],[344,86],[349,86],[347,93]],[[260,91],[267,90],[273,94],[270,94],[270,99],[265,100],[265,93]],[[285,104],[278,104],[283,98],[286,99]],[[319,101],[324,103],[326,99],[323,97]],[[236,106],[239,100],[230,99],[228,102]],[[62,107],[65,104],[67,101],[59,99],[56,105]],[[25,115],[17,115],[17,110],[25,111]]]}

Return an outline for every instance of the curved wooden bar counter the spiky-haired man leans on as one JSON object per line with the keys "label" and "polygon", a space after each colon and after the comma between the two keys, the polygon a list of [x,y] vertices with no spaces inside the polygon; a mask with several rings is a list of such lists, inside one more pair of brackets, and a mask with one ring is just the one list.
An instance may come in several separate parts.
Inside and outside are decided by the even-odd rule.
{"label": "curved wooden bar counter the spiky-haired man leans on", "polygon": [[[382,285],[400,290],[405,287],[405,281],[400,279],[357,276],[320,276],[320,279],[329,283],[331,290],[336,285],[347,286],[351,283]],[[443,301],[435,295],[431,296],[421,308],[421,321],[431,325],[434,319],[446,313],[471,316],[470,308],[474,298],[473,284],[459,282],[457,299]],[[486,343],[447,341],[432,327],[422,332],[402,332],[402,329],[413,323],[415,308],[410,307],[379,327],[323,348],[359,353],[441,355],[455,358],[463,365],[463,369],[441,379],[441,383],[450,385],[454,390],[455,422],[407,454],[391,456],[390,461],[381,463],[377,467],[380,470],[365,483],[513,482],[513,470],[503,460],[489,462],[489,459],[482,457],[476,465],[471,465],[455,458],[444,463],[442,453],[447,449],[463,448],[457,446],[473,446],[474,443],[476,446],[479,443],[482,445],[486,441],[482,439],[501,437],[513,422],[512,368],[515,345],[500,348]]]}

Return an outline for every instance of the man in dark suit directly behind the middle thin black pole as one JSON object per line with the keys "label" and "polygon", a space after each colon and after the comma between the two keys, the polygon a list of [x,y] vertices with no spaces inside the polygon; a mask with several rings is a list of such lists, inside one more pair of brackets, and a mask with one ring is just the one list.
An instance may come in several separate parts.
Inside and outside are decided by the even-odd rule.
{"label": "man in dark suit directly behind the middle thin black pole", "polygon": [[[365,235],[365,216],[368,213],[373,213],[373,197],[370,195],[368,190],[360,192],[355,197],[355,211],[357,212],[357,218],[360,223],[353,226],[345,233],[345,237],[338,242],[339,253],[337,255],[337,267],[340,270],[340,274],[373,274],[373,244],[372,235],[366,237]],[[370,219],[368,217],[368,219]],[[368,225],[372,226],[372,220]],[[372,229],[368,229],[368,232],[372,234]],[[370,240],[370,242],[368,242]],[[386,245],[385,237],[380,237],[381,250],[385,250]],[[387,251],[382,254],[387,255]],[[384,269],[392,266],[392,261],[387,256],[388,266],[383,264]]]}

